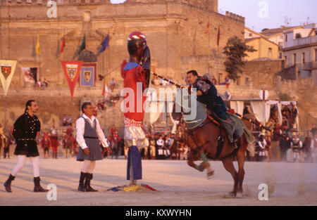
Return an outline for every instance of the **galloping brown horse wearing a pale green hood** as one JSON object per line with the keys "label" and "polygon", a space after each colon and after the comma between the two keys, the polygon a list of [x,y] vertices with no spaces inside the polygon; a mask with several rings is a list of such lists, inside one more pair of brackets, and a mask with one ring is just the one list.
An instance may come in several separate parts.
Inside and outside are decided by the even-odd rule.
{"label": "galloping brown horse wearing a pale green hood", "polygon": [[[234,180],[233,190],[230,191],[226,198],[242,198],[243,188],[242,183],[244,180],[244,157],[246,154],[248,141],[245,132],[242,135],[240,142],[238,143],[239,147],[235,148],[232,143],[228,140],[228,136],[225,132],[225,129],[221,129],[218,124],[209,119],[207,116],[206,106],[199,103],[193,96],[189,96],[188,93],[185,93],[185,96],[180,95],[179,93],[175,96],[175,103],[173,105],[172,117],[176,121],[180,121],[181,117],[184,117],[185,124],[187,125],[187,145],[190,148],[189,159],[187,164],[194,169],[198,169],[200,172],[203,172],[204,169],[207,169],[207,179],[213,176],[213,170],[210,168],[210,164],[207,158],[211,159],[220,159],[223,162],[225,169],[230,172]],[[184,105],[187,101],[194,99],[194,104],[197,110],[197,117],[189,119],[187,106]],[[188,103],[187,103],[188,104]],[[180,107],[180,112],[176,112],[176,106]],[[186,111],[184,109],[187,108]],[[186,113],[187,112],[187,113]],[[251,119],[254,118],[253,115],[244,115],[245,117]],[[200,118],[199,118],[200,117]],[[192,127],[192,123],[198,124],[196,127]],[[247,129],[251,129],[251,123],[247,120],[244,120]],[[223,141],[220,140],[222,137]],[[218,143],[223,143],[223,148],[219,148]],[[233,165],[233,157],[237,156],[238,171],[235,170]],[[203,160],[201,164],[197,165],[194,162],[197,160]]]}

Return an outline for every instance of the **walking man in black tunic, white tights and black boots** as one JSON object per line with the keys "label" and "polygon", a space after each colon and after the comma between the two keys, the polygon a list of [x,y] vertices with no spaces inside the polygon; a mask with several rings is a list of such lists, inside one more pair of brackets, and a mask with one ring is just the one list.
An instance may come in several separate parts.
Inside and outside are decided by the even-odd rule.
{"label": "walking man in black tunic, white tights and black boots", "polygon": [[41,129],[39,119],[35,115],[39,106],[37,101],[29,100],[25,105],[25,112],[14,123],[13,137],[16,141],[15,155],[18,155],[18,164],[13,168],[4,187],[8,193],[11,193],[11,181],[15,179],[16,174],[23,168],[25,158],[30,157],[33,165],[34,192],[47,192],[39,184],[39,150],[37,150],[36,137]]}

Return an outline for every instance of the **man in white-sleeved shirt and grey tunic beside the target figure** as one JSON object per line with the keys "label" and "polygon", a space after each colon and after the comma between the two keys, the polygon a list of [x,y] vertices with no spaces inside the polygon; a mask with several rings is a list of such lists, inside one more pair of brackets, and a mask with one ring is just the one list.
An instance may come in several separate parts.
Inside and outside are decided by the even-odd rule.
{"label": "man in white-sleeved shirt and grey tunic beside the target figure", "polygon": [[82,112],[82,117],[77,119],[76,122],[76,141],[80,145],[77,161],[84,161],[78,190],[82,192],[97,192],[90,186],[90,180],[92,179],[96,160],[102,160],[102,150],[99,141],[108,152],[111,153],[111,149],[108,147],[98,119],[93,115],[92,103],[83,103]]}

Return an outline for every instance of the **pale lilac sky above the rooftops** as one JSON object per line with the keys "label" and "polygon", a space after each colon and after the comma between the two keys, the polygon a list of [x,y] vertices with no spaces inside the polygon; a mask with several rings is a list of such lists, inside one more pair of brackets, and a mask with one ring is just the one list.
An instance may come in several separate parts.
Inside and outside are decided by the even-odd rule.
{"label": "pale lilac sky above the rooftops", "polygon": [[[118,4],[125,0],[111,0]],[[297,26],[317,23],[317,0],[218,0],[218,12],[230,11],[245,18],[245,25],[261,32],[281,25]]]}

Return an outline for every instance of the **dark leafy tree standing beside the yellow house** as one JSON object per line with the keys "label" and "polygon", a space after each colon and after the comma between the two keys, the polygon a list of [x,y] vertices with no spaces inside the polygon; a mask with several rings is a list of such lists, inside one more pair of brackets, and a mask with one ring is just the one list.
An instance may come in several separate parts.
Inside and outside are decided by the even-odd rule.
{"label": "dark leafy tree standing beside the yellow house", "polygon": [[248,46],[239,37],[231,37],[228,39],[227,46],[223,48],[223,53],[227,56],[228,60],[225,61],[225,71],[229,73],[230,79],[237,79],[238,73],[242,73],[244,61],[242,58],[247,56],[247,52],[254,52],[253,46]]}

